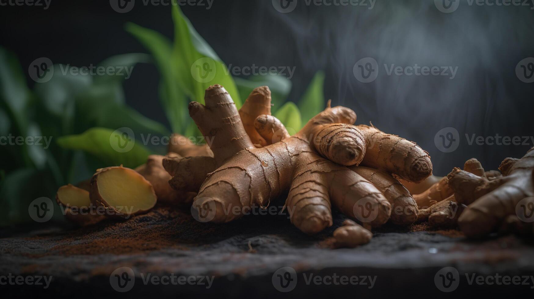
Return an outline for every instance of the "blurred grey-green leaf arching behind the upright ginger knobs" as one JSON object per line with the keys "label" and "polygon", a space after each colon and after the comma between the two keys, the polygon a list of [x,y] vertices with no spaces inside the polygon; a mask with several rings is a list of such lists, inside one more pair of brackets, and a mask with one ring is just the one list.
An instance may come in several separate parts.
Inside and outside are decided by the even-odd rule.
{"label": "blurred grey-green leaf arching behind the upright ginger knobs", "polygon": [[282,75],[257,75],[247,79],[234,78],[241,99],[246,99],[250,92],[258,86],[269,86],[271,90],[271,111],[277,111],[285,103],[291,91],[291,81]]}

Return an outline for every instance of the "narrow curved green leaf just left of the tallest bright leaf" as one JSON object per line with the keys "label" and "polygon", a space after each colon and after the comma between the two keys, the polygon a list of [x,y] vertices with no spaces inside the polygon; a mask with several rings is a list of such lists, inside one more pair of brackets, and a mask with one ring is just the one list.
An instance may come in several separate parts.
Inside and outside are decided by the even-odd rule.
{"label": "narrow curved green leaf just left of the tallest bright leaf", "polygon": [[179,88],[172,66],[171,43],[167,37],[134,23],[127,23],[126,30],[147,48],[161,73],[160,101],[174,132],[183,132],[189,122],[185,91]]}

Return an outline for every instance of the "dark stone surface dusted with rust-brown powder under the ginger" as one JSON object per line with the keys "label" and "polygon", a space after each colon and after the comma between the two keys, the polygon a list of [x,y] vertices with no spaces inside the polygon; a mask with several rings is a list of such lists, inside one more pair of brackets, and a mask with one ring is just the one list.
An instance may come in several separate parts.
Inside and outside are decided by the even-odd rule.
{"label": "dark stone surface dusted with rust-brown powder under the ginger", "polygon": [[[457,231],[418,231],[386,226],[372,241],[354,249],[332,249],[334,226],[310,237],[290,225],[287,216],[251,215],[224,225],[195,222],[185,211],[156,209],[128,221],[107,221],[94,227],[62,228],[58,224],[19,227],[0,231],[0,275],[52,276],[48,289],[38,286],[1,286],[6,294],[54,293],[94,297],[137,295],[177,297],[269,297],[333,295],[396,295],[403,292],[439,292],[434,277],[445,266],[455,267],[460,284],[454,293],[509,294],[530,292],[530,285],[468,285],[466,273],[483,276],[534,275],[534,246],[514,236],[468,241]],[[64,225],[63,225],[64,226]],[[403,231],[404,230],[404,231]],[[127,266],[135,285],[117,293],[110,274]],[[273,273],[290,266],[297,272],[292,292],[280,293]],[[199,285],[143,284],[143,275],[214,276],[209,289]],[[307,285],[303,274],[315,276],[376,276],[369,285]],[[252,295],[254,294],[254,296]],[[420,295],[417,295],[418,297]]]}

